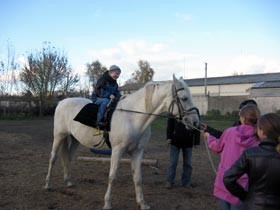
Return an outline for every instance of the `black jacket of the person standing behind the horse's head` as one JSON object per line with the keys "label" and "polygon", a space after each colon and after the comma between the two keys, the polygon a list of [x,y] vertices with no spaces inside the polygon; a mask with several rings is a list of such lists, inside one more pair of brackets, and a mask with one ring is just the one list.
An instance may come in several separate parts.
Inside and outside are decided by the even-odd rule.
{"label": "black jacket of the person standing behind the horse's head", "polygon": [[199,131],[187,130],[182,122],[174,118],[168,118],[166,131],[167,139],[171,139],[171,144],[178,148],[188,148],[200,143]]}

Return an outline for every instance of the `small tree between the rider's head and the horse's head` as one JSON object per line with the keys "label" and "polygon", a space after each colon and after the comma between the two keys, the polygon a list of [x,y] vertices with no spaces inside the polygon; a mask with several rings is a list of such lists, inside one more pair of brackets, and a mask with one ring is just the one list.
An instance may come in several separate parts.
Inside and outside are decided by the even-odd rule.
{"label": "small tree between the rider's head and the horse's head", "polygon": [[139,83],[144,84],[148,81],[151,81],[154,76],[154,70],[150,67],[148,61],[139,60],[138,61],[139,69],[132,73],[132,78],[128,80],[127,83]]}

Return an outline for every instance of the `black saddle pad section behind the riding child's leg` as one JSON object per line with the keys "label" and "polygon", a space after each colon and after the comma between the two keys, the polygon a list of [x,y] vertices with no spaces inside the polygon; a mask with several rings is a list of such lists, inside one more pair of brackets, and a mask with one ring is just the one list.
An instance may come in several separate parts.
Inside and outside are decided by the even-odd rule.
{"label": "black saddle pad section behind the riding child's leg", "polygon": [[98,112],[98,105],[94,103],[86,104],[81,109],[81,111],[77,114],[74,120],[84,125],[95,127],[97,112]]}

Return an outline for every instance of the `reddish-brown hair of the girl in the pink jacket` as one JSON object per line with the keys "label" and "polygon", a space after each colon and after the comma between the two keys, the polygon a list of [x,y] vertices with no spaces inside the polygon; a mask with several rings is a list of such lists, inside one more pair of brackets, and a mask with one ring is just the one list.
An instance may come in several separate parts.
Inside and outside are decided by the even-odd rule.
{"label": "reddish-brown hair of the girl in the pink jacket", "polygon": [[248,104],[240,110],[240,116],[247,119],[248,124],[256,126],[260,117],[260,110],[256,105]]}

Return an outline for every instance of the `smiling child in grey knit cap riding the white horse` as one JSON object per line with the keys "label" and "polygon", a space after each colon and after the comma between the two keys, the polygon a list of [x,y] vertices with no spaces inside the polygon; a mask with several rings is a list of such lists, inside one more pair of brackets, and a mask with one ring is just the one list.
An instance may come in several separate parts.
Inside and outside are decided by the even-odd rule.
{"label": "smiling child in grey knit cap riding the white horse", "polygon": [[117,79],[121,74],[121,69],[116,66],[110,66],[109,70],[106,71],[97,81],[95,89],[92,93],[92,102],[99,105],[96,125],[104,126],[102,122],[106,107],[110,100],[119,100],[121,94],[119,92],[119,86]]}

